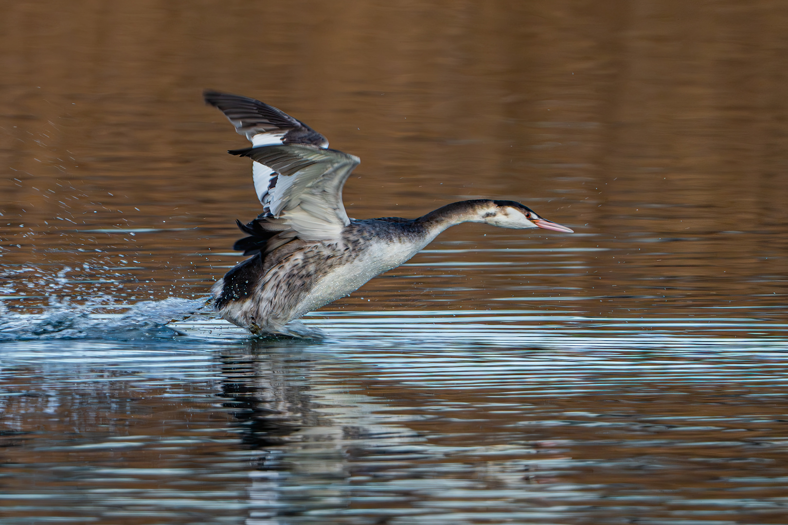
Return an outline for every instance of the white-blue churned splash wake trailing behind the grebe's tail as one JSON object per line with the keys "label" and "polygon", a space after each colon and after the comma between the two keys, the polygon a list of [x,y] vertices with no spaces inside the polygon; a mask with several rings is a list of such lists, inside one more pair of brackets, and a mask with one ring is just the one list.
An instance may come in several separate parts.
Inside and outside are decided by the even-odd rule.
{"label": "white-blue churned splash wake trailing behind the grebe's tail", "polygon": [[[117,307],[117,305],[113,305]],[[214,316],[206,298],[166,298],[123,305],[123,313],[96,313],[102,305],[50,305],[43,313],[9,312],[0,302],[0,342],[38,339],[173,338],[182,332],[167,326],[192,316]],[[103,305],[106,307],[106,305]]]}

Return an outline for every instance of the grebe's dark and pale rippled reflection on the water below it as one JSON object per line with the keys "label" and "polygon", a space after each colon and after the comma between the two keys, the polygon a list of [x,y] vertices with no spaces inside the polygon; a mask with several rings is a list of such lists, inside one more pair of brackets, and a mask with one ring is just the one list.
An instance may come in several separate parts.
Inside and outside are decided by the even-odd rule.
{"label": "grebe's dark and pale rippled reflection on the water below it", "polygon": [[[345,440],[359,428],[341,420],[358,407],[348,394],[310,385],[321,372],[309,346],[262,340],[222,357],[219,395],[235,410],[243,448],[259,452],[251,456],[247,525],[311,523],[313,512],[347,506]],[[331,416],[320,412],[329,407]]]}

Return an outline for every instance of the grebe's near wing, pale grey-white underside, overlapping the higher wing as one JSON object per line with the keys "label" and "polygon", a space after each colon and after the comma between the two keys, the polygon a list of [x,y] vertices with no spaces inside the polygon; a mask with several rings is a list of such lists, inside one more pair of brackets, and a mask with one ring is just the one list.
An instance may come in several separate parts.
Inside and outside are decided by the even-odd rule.
{"label": "grebe's near wing, pale grey-white underside, overlapping the higher wing", "polygon": [[304,240],[336,238],[350,224],[342,187],[359,157],[308,144],[260,146],[229,153],[250,157],[278,176],[269,188],[268,212]]}

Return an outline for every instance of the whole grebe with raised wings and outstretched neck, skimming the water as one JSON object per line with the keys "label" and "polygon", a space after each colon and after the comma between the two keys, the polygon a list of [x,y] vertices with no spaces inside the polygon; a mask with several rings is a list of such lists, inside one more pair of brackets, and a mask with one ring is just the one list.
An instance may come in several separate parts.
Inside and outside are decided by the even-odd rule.
{"label": "whole grebe with raised wings and outstretched neck, skimming the water", "polygon": [[350,219],[342,186],[359,157],[329,150],[325,137],[254,98],[204,92],[251,148],[262,213],[233,249],[252,255],[219,279],[213,305],[225,320],[253,334],[310,336],[293,321],[351,294],[362,284],[413,257],[450,226],[464,222],[525,229],[572,230],[515,201],[478,199],[445,205],[418,219]]}

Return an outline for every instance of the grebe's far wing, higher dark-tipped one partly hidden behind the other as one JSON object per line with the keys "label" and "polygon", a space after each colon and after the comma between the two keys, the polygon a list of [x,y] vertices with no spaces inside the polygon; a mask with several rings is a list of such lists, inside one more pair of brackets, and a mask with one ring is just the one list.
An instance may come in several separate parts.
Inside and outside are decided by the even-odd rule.
{"label": "grebe's far wing, higher dark-tipped one partly hidden behind the other", "polygon": [[[240,94],[220,93],[213,90],[203,91],[203,97],[206,104],[220,109],[236,127],[236,131],[249,139],[252,146],[274,144],[313,144],[322,148],[329,146],[329,141],[323,135],[273,105]],[[265,212],[268,211],[269,189],[276,176],[276,172],[268,166],[258,162],[252,163],[255,193]]]}

